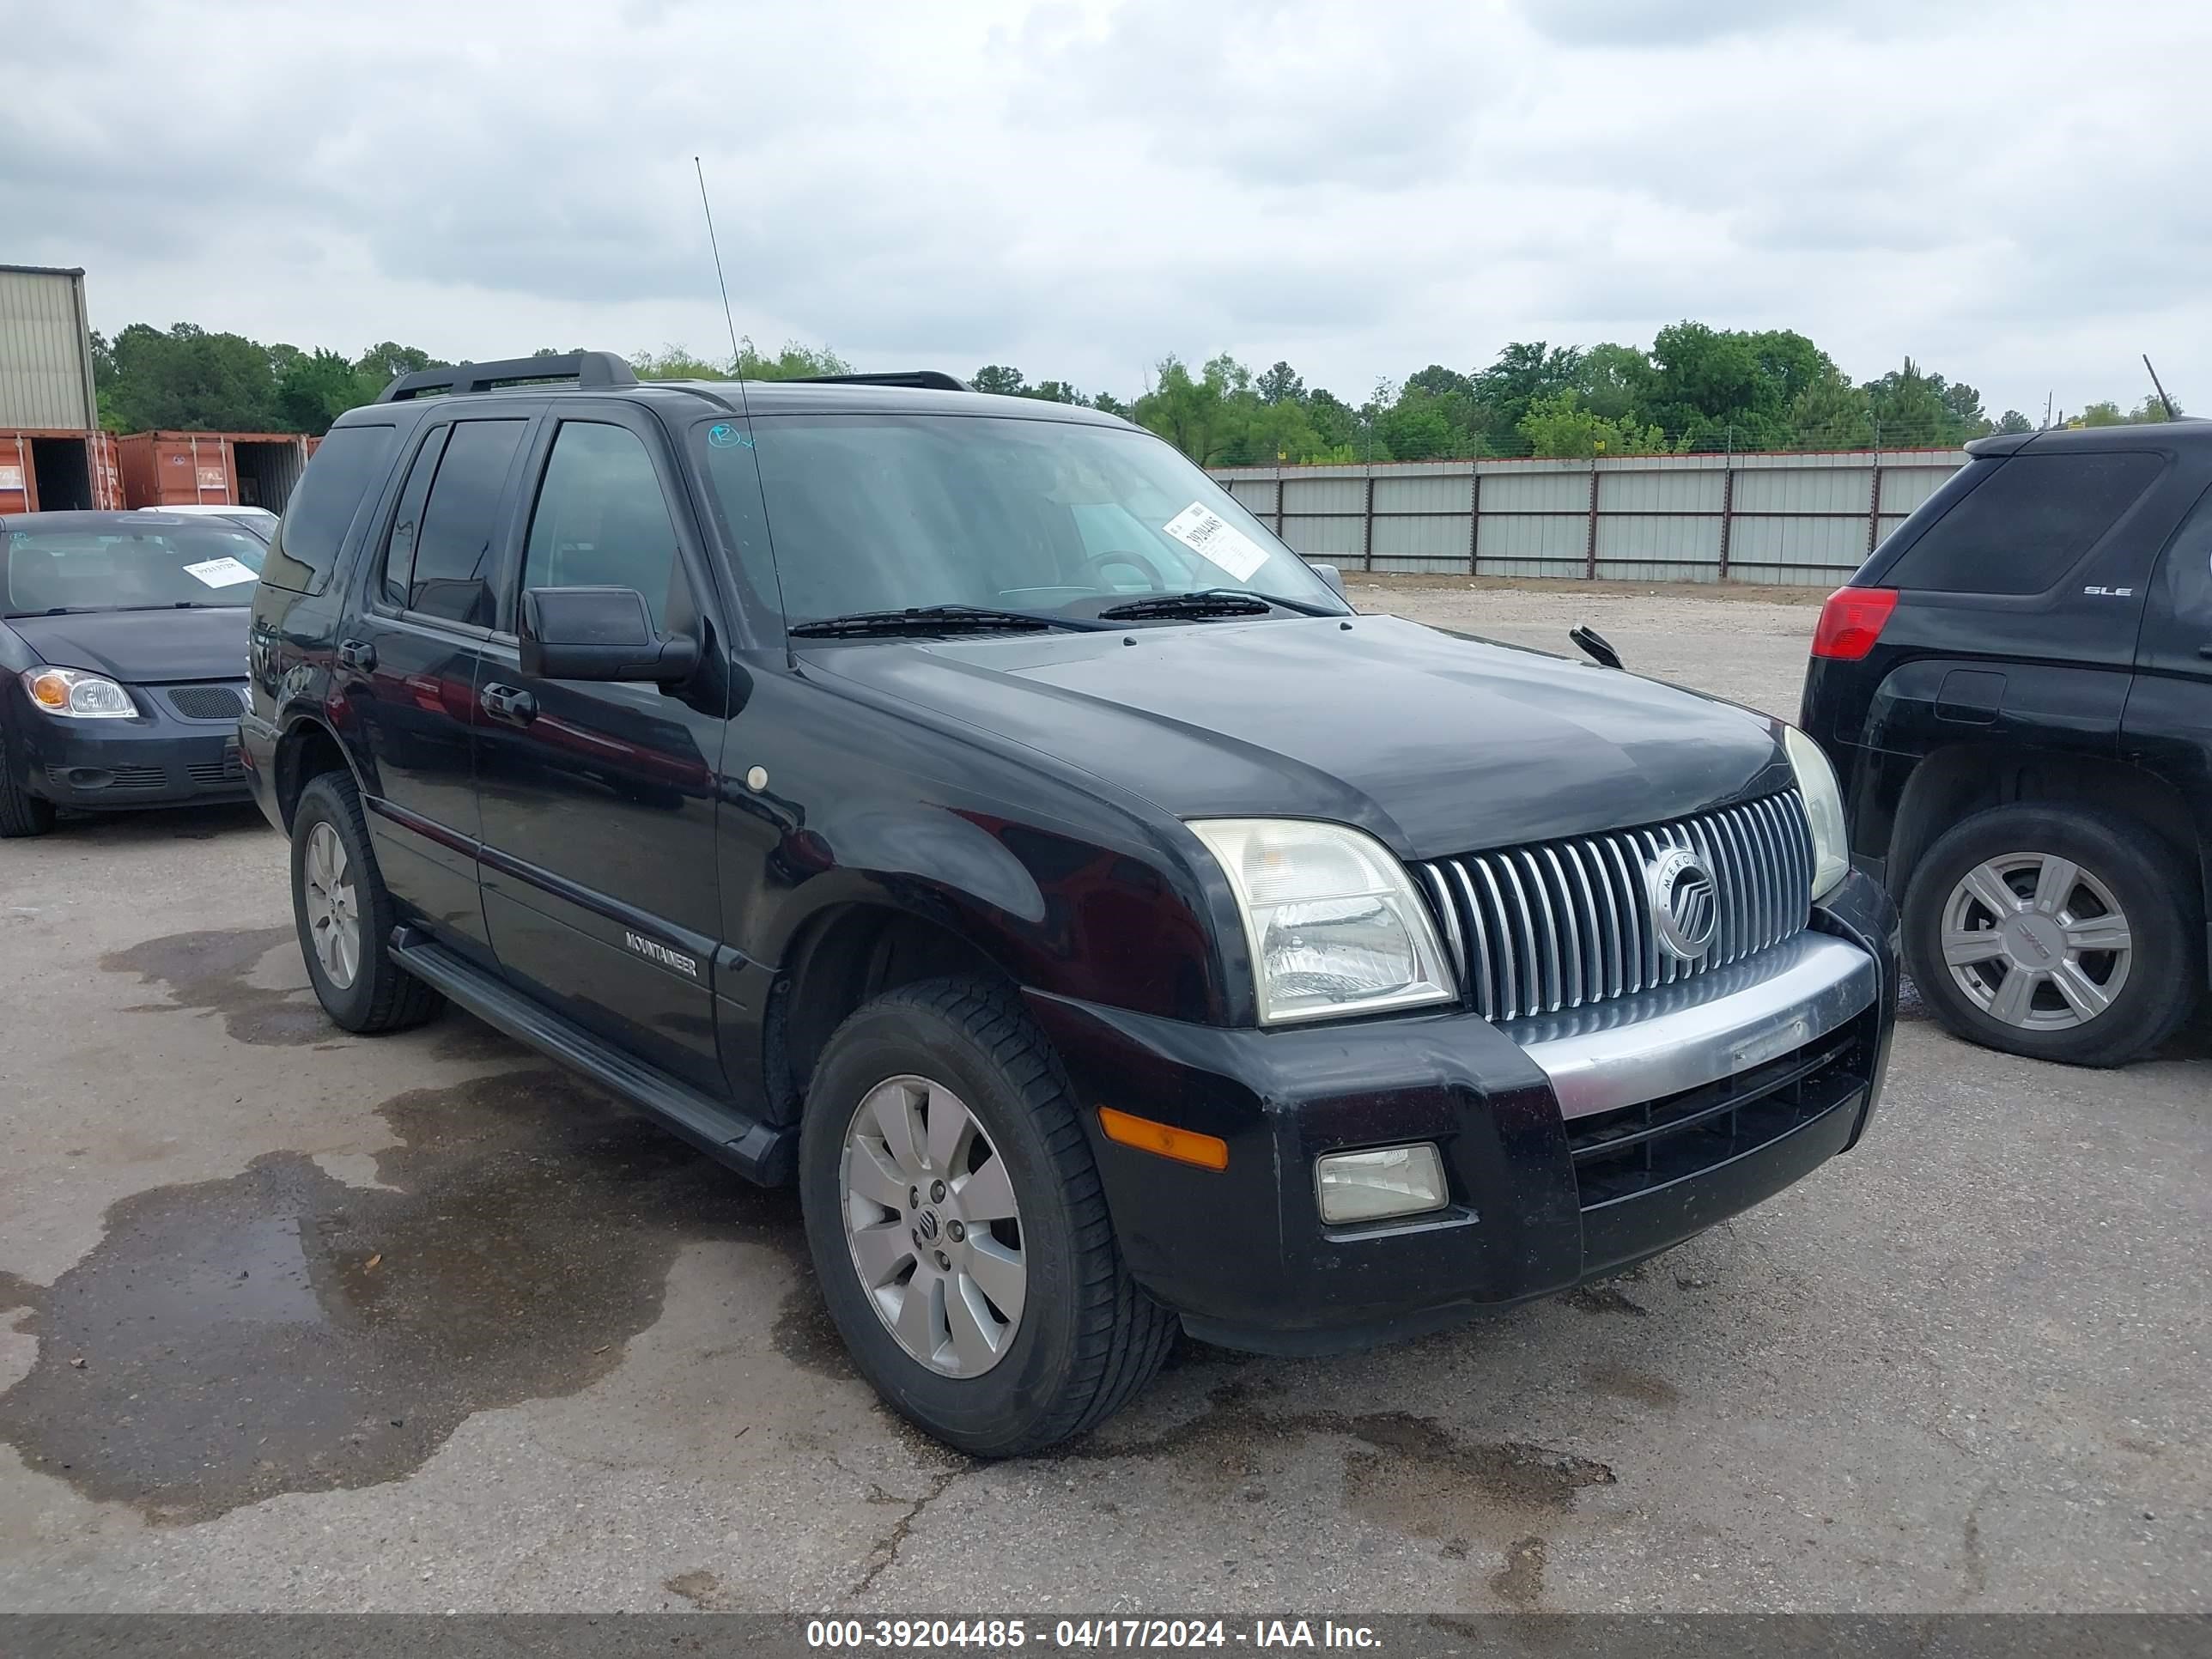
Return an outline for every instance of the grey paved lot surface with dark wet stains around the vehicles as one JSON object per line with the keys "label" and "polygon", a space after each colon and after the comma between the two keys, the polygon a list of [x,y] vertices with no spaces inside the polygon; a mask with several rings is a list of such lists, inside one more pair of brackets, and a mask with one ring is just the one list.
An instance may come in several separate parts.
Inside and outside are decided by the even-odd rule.
{"label": "grey paved lot surface with dark wet stains around the vehicles", "polygon": [[[1790,712],[1807,595],[1356,586]],[[1812,595],[1816,597],[1816,595]],[[1900,1029],[1867,1141],[1575,1296],[905,1431],[796,1210],[314,1009],[252,812],[0,845],[0,1608],[2212,1608],[2212,1040]],[[11,1312],[13,1310],[13,1312]]]}

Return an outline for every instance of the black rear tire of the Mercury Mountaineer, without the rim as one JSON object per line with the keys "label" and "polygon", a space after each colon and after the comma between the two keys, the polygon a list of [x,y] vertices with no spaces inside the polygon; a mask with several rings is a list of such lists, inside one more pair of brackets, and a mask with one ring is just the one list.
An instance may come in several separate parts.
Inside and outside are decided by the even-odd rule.
{"label": "black rear tire of the Mercury Mountaineer, without the rim", "polygon": [[[334,971],[319,949],[316,896],[310,865],[321,836],[334,836],[343,849],[347,911],[356,929],[352,971]],[[372,1035],[405,1031],[436,1018],[445,1006],[422,980],[392,958],[392,929],[398,920],[385,878],[376,869],[369,827],[361,816],[361,794],[345,772],[323,772],[310,781],[292,812],[292,920],[299,927],[299,953],[307,962],[314,995],[334,1022],[347,1031]],[[345,980],[341,984],[341,978]]]}

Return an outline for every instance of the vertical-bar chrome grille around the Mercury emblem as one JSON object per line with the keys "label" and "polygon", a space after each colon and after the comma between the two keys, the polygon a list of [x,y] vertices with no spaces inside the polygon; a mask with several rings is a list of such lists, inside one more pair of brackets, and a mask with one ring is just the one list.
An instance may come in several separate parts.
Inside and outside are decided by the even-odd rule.
{"label": "vertical-bar chrome grille around the Mercury emblem", "polygon": [[[1719,916],[1694,962],[1659,947],[1644,867],[1688,847]],[[1812,825],[1796,790],[1697,818],[1416,865],[1475,1009],[1491,1020],[1635,995],[1798,933]]]}

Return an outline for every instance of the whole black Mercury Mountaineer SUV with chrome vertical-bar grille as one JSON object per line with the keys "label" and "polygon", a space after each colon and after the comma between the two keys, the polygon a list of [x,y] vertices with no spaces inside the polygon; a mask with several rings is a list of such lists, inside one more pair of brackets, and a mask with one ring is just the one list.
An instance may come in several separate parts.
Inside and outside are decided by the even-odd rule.
{"label": "whole black Mercury Mountaineer SUV with chrome vertical-bar grille", "polygon": [[1177,1321],[1323,1352],[1666,1250],[1887,1062],[1794,728],[1360,617],[1150,434],[949,376],[400,378],[241,732],[338,1024],[451,998],[796,1179],[860,1371],[975,1453]]}

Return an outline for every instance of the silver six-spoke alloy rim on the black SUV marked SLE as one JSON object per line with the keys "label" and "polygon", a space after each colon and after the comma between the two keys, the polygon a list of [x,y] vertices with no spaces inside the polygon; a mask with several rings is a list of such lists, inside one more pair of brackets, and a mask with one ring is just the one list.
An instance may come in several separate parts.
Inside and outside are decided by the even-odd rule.
{"label": "silver six-spoke alloy rim on the black SUV marked SLE", "polygon": [[1969,869],[1942,907],[1942,960],[1982,1013],[2022,1031],[2070,1031],[2119,995],[2135,958],[2112,889],[2051,852]]}

